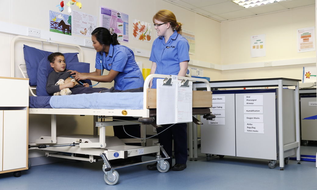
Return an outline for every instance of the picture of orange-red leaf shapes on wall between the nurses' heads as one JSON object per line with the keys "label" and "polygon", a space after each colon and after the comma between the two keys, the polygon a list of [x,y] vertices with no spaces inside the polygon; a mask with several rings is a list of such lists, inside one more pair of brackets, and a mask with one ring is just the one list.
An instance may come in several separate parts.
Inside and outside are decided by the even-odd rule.
{"label": "picture of orange-red leaf shapes on wall between the nurses' heads", "polygon": [[151,24],[133,19],[133,39],[151,42]]}

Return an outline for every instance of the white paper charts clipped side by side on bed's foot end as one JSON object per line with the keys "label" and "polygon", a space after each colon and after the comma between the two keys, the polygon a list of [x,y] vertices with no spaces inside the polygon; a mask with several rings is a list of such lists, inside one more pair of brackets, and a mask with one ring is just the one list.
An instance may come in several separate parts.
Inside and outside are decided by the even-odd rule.
{"label": "white paper charts clipped side by side on bed's foot end", "polygon": [[158,125],[192,121],[192,82],[187,86],[172,80],[170,85],[157,79],[157,121]]}

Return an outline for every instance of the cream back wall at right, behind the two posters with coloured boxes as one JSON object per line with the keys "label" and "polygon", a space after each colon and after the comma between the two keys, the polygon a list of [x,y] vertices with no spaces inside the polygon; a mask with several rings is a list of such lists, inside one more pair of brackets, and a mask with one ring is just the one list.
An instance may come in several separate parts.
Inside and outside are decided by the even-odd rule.
{"label": "cream back wall at right, behind the two posters with coloured boxes", "polygon": [[[221,23],[221,62],[226,67],[272,61],[285,66],[222,71],[221,80],[286,77],[302,79],[303,66],[316,63],[316,52],[297,53],[297,29],[315,26],[315,6]],[[266,34],[266,56],[250,57],[250,36]],[[314,59],[312,59],[314,58]],[[295,65],[290,65],[290,63]],[[236,64],[238,66],[236,66]],[[283,65],[282,64],[282,65]],[[252,66],[250,66],[252,67]]]}

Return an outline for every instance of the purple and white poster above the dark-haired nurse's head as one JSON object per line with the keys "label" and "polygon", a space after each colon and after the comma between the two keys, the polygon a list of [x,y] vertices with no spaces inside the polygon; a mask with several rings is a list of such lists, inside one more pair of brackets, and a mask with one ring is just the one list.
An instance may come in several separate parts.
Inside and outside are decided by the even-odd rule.
{"label": "purple and white poster above the dark-haired nurse's head", "polygon": [[129,15],[100,6],[100,27],[118,35],[118,41],[129,42]]}

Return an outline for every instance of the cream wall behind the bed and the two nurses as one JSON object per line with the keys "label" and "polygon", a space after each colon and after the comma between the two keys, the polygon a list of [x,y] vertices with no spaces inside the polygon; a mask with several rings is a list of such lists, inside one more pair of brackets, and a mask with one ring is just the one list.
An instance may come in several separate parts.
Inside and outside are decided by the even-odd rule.
{"label": "cream wall behind the bed and the two nurses", "polygon": [[[44,31],[46,35],[42,37],[53,41],[64,41],[73,39],[83,40],[85,37],[75,35],[66,36],[63,34],[56,34],[49,32],[49,10],[56,12],[58,8],[56,5],[60,1],[45,1],[42,0],[28,0],[28,1],[14,1],[14,0],[0,0],[0,22],[5,22],[5,25],[9,28],[0,27],[0,56],[1,56],[1,70],[0,76],[10,77],[10,44],[11,40],[17,35],[27,35],[27,28],[36,28]],[[117,0],[117,1],[104,1],[104,0],[81,0],[82,8],[78,9],[76,6],[72,6],[73,10],[84,12],[87,14],[95,15],[98,17],[97,25],[99,26],[99,7],[105,6],[111,9],[121,11],[129,15],[129,34],[132,36],[133,19],[146,21],[152,23],[153,15],[160,9],[170,9],[176,15],[179,22],[183,23],[183,28],[195,32],[196,34],[196,54],[190,55],[191,59],[198,61],[221,64],[221,28],[220,22],[214,21],[202,15],[198,15],[187,9],[180,8],[167,0]],[[66,4],[66,1],[64,1]],[[140,6],[141,5],[141,6]],[[66,5],[65,5],[66,6]],[[146,7],[146,8],[145,8]],[[67,8],[67,6],[66,6]],[[65,9],[63,14],[68,14]],[[17,29],[12,32],[11,26],[15,26]],[[4,32],[4,33],[3,33]],[[156,38],[156,31],[152,28],[152,42]],[[74,43],[78,43],[74,42]],[[20,51],[15,55],[15,63],[23,63],[23,52],[21,46],[24,41],[19,42],[19,45],[15,48],[15,51]],[[138,48],[142,50],[151,51],[152,43],[133,40],[130,38],[129,43],[122,43],[122,45]],[[41,45],[32,45],[36,48],[40,48]],[[46,47],[51,48],[51,47]],[[84,62],[90,63],[90,70],[94,71],[94,63],[96,52],[93,48],[82,46],[84,54]],[[48,50],[54,51],[54,50]],[[70,50],[69,50],[70,51]],[[66,52],[62,51],[62,52]],[[143,68],[151,68],[152,62],[149,58],[135,57],[137,62],[142,62]],[[199,68],[199,67],[198,67]],[[19,71],[16,70],[17,77],[21,77]],[[105,74],[108,72],[106,71]],[[204,76],[211,77],[212,80],[217,80],[221,76],[221,71],[211,70],[204,68]],[[110,88],[113,83],[100,83],[96,87]],[[80,134],[93,134],[93,116],[71,116],[71,115],[58,115],[57,116],[57,133],[80,133]],[[29,115],[29,142],[35,142],[35,139],[40,135],[50,134],[50,115]],[[110,132],[111,134],[111,132]],[[40,151],[40,153],[42,153]],[[38,152],[31,151],[29,157],[42,156]],[[34,164],[32,162],[32,164]]]}

